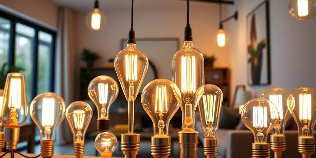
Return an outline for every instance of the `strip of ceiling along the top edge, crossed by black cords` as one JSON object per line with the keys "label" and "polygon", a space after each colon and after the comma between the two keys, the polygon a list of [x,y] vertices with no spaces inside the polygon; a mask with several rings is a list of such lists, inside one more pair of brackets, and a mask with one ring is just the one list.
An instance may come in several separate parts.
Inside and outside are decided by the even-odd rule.
{"label": "strip of ceiling along the top edge, crossed by black cords", "polygon": [[[67,6],[76,11],[89,11],[93,8],[94,0],[50,0],[59,6]],[[131,8],[131,0],[99,0],[102,10],[123,10]],[[216,3],[190,1],[190,6],[208,7]],[[135,9],[184,8],[185,0],[135,0]]]}

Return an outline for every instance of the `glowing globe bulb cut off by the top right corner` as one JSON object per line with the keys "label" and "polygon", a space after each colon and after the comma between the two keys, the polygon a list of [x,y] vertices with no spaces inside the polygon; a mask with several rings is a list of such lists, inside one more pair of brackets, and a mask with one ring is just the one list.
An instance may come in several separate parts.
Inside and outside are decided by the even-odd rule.
{"label": "glowing globe bulb cut off by the top right corner", "polygon": [[291,0],[289,13],[298,20],[307,20],[316,15],[316,0]]}

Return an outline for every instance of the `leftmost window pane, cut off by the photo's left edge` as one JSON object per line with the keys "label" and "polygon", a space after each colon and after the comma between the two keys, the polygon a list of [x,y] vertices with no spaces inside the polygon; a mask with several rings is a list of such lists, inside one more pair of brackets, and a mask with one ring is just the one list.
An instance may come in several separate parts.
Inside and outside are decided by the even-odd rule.
{"label": "leftmost window pane, cut off by the photo's left edge", "polygon": [[4,63],[7,63],[7,66],[8,66],[10,28],[11,28],[10,21],[0,17],[0,68],[2,67]]}

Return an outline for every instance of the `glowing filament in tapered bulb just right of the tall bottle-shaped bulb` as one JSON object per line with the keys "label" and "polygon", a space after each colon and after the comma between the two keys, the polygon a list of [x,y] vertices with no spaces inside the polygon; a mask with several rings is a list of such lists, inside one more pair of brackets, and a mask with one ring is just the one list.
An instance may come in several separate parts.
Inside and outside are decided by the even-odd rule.
{"label": "glowing filament in tapered bulb just right of the tall bottle-shaped bulb", "polygon": [[206,124],[213,124],[214,117],[218,114],[218,109],[215,112],[216,96],[212,94],[202,95],[202,100]]}

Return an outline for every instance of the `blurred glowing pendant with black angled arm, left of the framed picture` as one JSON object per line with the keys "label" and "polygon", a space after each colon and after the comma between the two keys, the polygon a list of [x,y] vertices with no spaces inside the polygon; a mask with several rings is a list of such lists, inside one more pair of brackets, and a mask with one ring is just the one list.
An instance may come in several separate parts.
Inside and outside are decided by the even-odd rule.
{"label": "blurred glowing pendant with black angled arm, left of the framed picture", "polygon": [[232,18],[234,18],[235,20],[238,19],[238,11],[235,11],[234,15],[231,15],[228,18],[222,20],[222,3],[221,0],[219,0],[219,29],[216,33],[217,46],[219,47],[226,46],[229,41],[228,34],[223,29],[223,23],[229,21]]}

